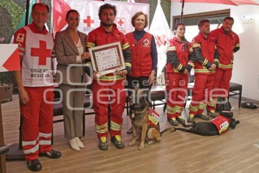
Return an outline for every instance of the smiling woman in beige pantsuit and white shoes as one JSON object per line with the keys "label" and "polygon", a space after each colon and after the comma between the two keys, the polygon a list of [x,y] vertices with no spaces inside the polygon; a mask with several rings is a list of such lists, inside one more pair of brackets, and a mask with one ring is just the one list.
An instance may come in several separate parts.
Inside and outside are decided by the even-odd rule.
{"label": "smiling woman in beige pantsuit and white shoes", "polygon": [[73,9],[69,10],[66,14],[68,27],[55,35],[55,53],[58,61],[55,81],[59,83],[63,95],[65,138],[69,139],[71,148],[77,151],[84,148],[79,137],[86,91],[86,74],[80,64],[90,58],[90,54],[85,52],[87,35],[77,30],[79,20],[79,13]]}

